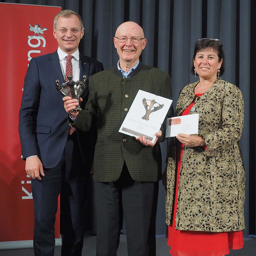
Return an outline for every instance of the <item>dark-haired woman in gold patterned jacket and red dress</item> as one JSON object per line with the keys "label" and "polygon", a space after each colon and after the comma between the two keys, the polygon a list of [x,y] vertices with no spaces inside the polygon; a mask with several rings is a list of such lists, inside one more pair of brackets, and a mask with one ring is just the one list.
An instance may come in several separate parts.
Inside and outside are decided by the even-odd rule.
{"label": "dark-haired woman in gold patterned jacket and red dress", "polygon": [[169,145],[172,256],[222,256],[243,247],[245,173],[238,141],[244,102],[235,85],[219,78],[224,61],[218,39],[199,39],[192,68],[199,81],[186,85],[177,101],[176,116],[198,113],[199,126],[198,134],[178,134]]}

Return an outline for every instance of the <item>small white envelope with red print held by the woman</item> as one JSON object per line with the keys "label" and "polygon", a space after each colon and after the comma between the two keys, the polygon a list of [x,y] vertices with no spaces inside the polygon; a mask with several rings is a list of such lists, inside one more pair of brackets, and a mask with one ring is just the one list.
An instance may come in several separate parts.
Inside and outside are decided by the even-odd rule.
{"label": "small white envelope with red print held by the woman", "polygon": [[179,133],[197,134],[199,114],[176,116],[166,119],[166,137],[176,137]]}

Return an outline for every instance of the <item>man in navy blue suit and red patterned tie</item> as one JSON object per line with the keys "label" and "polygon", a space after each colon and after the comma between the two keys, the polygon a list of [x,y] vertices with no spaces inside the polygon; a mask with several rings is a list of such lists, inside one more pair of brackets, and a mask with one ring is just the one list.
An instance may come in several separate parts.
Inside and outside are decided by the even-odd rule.
{"label": "man in navy blue suit and red patterned tie", "polygon": [[[32,58],[26,73],[19,113],[19,134],[26,173],[32,178],[35,209],[34,252],[53,256],[55,214],[61,195],[61,256],[81,256],[82,207],[93,159],[96,134],[70,132],[67,113],[55,80],[64,83],[67,55],[72,55],[73,80],[103,70],[102,63],[79,54],[84,27],[79,14],[59,12],[54,19],[56,52]],[[88,89],[82,95],[84,106]]]}

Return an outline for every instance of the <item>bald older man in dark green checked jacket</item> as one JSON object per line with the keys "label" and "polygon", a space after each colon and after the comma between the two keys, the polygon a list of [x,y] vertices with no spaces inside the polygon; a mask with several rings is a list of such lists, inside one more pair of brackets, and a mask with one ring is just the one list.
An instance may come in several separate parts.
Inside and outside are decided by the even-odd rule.
{"label": "bald older man in dark green checked jacket", "polygon": [[[139,61],[147,39],[137,23],[122,23],[113,40],[119,61],[115,67],[91,76],[85,111],[72,113],[78,102],[70,97],[64,98],[64,107],[77,129],[87,131],[92,122],[97,125],[93,173],[97,255],[116,255],[123,216],[128,255],[154,256],[161,179],[159,142],[164,140],[165,128],[163,125],[155,134],[154,143],[144,136],[135,139],[118,131],[138,90],[170,99],[171,80],[169,74]],[[171,112],[170,109],[167,116]]]}

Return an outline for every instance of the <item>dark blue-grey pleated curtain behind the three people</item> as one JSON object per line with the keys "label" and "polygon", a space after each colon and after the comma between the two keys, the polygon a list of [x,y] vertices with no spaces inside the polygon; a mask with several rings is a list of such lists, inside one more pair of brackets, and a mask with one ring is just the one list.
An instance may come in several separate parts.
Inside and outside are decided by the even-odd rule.
{"label": "dark blue-grey pleated curtain behind the three people", "polygon": [[[105,69],[116,65],[118,60],[116,49],[113,47],[116,28],[128,20],[139,23],[148,39],[141,60],[144,64],[158,67],[170,74],[174,106],[180,89],[195,81],[190,73],[195,41],[198,38],[220,38],[226,56],[226,70],[222,78],[236,84],[244,96],[244,131],[240,140],[247,175],[244,237],[256,235],[255,0],[0,0],[0,2],[61,6],[62,9],[78,12],[85,27],[80,51],[102,61]],[[161,147],[164,163],[166,144],[162,143]],[[160,186],[157,234],[164,234],[165,230],[164,189]]]}

